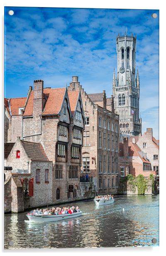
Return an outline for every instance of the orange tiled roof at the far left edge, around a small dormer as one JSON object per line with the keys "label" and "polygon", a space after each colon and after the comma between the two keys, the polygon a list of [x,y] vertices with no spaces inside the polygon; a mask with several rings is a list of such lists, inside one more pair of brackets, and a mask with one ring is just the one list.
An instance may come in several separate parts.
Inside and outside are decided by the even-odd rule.
{"label": "orange tiled roof at the far left edge, around a small dormer", "polygon": [[[8,103],[8,99],[5,98],[4,103],[5,103],[5,106],[7,107],[7,110],[9,112],[11,110],[12,116],[18,116],[19,115],[19,108],[24,108],[26,100],[27,100],[26,97],[10,98],[9,103]],[[10,110],[9,110],[9,104],[10,104]]]}

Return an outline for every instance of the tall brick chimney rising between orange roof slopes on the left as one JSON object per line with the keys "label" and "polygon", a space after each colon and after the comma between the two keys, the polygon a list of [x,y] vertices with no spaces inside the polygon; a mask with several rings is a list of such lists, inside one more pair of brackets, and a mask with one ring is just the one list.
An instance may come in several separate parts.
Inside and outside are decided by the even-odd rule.
{"label": "tall brick chimney rising between orange roof slopes on the left", "polygon": [[34,80],[33,116],[39,116],[43,111],[43,85],[43,80]]}

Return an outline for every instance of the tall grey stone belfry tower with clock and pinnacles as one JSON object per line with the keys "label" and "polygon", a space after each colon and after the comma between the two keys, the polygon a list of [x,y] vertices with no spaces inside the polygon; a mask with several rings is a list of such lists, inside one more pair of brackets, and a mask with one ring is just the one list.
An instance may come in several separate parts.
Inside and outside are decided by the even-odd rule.
{"label": "tall grey stone belfry tower with clock and pinnacles", "polygon": [[139,118],[139,72],[135,77],[136,36],[117,36],[117,77],[113,71],[113,97],[115,112],[120,116],[122,134],[142,133]]}

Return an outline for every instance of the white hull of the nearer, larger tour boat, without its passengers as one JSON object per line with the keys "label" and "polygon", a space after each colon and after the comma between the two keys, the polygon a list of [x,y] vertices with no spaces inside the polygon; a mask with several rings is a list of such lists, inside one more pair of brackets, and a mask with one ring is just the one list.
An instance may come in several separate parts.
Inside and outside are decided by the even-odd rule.
{"label": "white hull of the nearer, larger tour boat, without its passengers", "polygon": [[30,222],[56,222],[64,219],[71,219],[81,216],[82,212],[73,212],[58,215],[26,214]]}

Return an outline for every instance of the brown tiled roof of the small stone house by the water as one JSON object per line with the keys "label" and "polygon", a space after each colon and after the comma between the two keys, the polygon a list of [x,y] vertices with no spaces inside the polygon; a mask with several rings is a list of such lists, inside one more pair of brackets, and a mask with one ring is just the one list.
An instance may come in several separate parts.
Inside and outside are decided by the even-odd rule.
{"label": "brown tiled roof of the small stone house by the water", "polygon": [[20,140],[28,158],[36,161],[49,161],[44,151],[43,146],[40,143],[34,143],[29,141]]}

